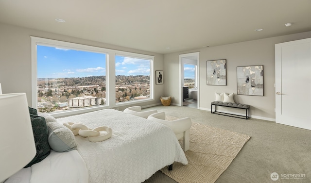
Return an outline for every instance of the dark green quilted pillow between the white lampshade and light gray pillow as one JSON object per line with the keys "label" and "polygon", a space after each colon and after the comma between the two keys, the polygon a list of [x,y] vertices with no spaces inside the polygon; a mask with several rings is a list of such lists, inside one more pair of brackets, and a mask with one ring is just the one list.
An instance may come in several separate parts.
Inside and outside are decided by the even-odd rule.
{"label": "dark green quilted pillow between the white lampshade and light gray pillow", "polygon": [[48,142],[48,128],[44,117],[30,114],[30,119],[35,138],[36,154],[34,159],[25,168],[42,161],[50,154],[51,150]]}

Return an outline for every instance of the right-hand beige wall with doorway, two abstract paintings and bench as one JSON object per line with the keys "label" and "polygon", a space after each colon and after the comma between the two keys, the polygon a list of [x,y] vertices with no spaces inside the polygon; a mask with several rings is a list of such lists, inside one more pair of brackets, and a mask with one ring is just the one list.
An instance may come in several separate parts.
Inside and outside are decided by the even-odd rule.
{"label": "right-hand beige wall with doorway, two abstract paintings and bench", "polygon": [[[210,102],[215,100],[217,93],[237,93],[237,67],[263,65],[264,70],[264,96],[235,95],[235,101],[251,105],[251,117],[275,121],[275,44],[311,37],[311,32],[278,36],[254,41],[247,41],[223,46],[209,47],[198,50],[183,51],[164,55],[164,71],[166,96],[172,96],[173,104],[178,99],[178,62],[179,54],[200,52],[200,109],[210,111]],[[206,84],[206,61],[227,60],[227,85],[212,86]],[[241,110],[223,108],[235,113]]]}

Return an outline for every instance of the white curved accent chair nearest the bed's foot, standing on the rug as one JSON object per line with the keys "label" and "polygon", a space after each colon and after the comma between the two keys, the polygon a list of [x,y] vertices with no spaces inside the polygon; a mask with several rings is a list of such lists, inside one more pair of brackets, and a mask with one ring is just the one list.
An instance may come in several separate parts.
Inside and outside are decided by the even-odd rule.
{"label": "white curved accent chair nearest the bed's foot, standing on the rug", "polygon": [[189,117],[167,121],[165,120],[165,112],[159,112],[150,115],[148,119],[170,127],[175,133],[177,139],[184,138],[183,150],[187,151],[190,149],[190,128],[192,122]]}

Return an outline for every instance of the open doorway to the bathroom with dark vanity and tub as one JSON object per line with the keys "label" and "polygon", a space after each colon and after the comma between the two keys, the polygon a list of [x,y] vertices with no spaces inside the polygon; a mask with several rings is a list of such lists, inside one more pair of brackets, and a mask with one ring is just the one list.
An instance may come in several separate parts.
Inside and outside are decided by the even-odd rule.
{"label": "open doorway to the bathroom with dark vanity and tub", "polygon": [[180,104],[199,108],[199,52],[179,55]]}

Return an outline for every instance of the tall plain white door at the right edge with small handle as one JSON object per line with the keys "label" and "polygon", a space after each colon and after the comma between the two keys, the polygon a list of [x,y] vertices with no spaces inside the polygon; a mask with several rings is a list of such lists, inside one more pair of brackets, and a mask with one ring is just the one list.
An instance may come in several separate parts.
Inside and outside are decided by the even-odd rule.
{"label": "tall plain white door at the right edge with small handle", "polygon": [[311,130],[311,38],[276,44],[276,123]]}

